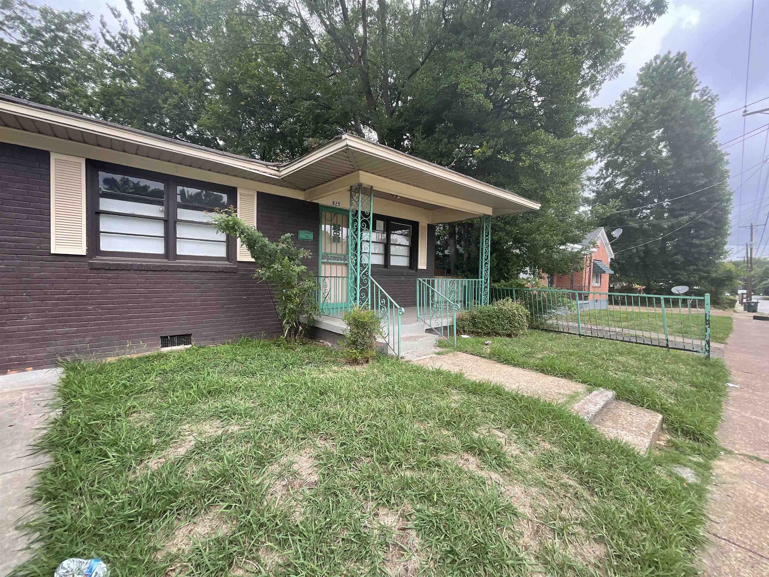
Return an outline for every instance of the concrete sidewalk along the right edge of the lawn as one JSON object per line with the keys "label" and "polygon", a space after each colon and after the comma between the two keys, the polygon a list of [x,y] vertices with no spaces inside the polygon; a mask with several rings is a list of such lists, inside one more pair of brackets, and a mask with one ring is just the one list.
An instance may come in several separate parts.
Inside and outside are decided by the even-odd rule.
{"label": "concrete sidewalk along the right edge of the lawn", "polygon": [[[731,382],[718,440],[739,455],[714,462],[704,575],[769,575],[769,322],[734,313],[726,349]],[[747,456],[746,456],[747,455]]]}

